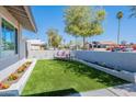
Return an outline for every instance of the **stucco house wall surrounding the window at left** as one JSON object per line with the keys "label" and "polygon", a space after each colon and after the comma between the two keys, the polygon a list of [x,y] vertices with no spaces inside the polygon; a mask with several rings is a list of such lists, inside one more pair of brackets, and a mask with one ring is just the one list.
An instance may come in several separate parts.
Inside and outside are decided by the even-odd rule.
{"label": "stucco house wall surrounding the window at left", "polygon": [[[1,24],[2,18],[18,29],[18,54],[14,56],[8,56],[7,58],[0,58],[0,70],[4,69],[11,64],[14,64],[18,60],[23,59],[25,57],[24,49],[23,49],[25,47],[24,47],[24,44],[22,43],[22,26],[12,16],[12,14],[10,14],[10,12],[7,9],[4,9],[3,7],[0,7],[0,24]],[[1,25],[0,25],[0,35],[2,35],[1,33],[2,31],[1,31]]]}

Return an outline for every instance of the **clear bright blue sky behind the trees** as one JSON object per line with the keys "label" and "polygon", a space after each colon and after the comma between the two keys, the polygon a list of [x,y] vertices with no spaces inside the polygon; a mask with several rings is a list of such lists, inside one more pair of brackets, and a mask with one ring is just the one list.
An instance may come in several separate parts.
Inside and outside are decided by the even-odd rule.
{"label": "clear bright blue sky behind the trees", "polygon": [[[38,29],[37,34],[23,31],[24,36],[27,38],[39,38],[47,42],[46,31],[50,27],[57,29],[59,34],[63,35],[66,42],[75,39],[71,35],[64,32],[64,10],[67,7],[63,5],[45,5],[45,7],[31,7],[32,12]],[[136,43],[136,19],[129,19],[129,7],[103,7],[106,11],[106,19],[103,22],[104,33],[89,37],[88,41],[113,41],[116,42],[117,36],[117,19],[116,13],[122,11],[124,18],[121,22],[121,41],[134,42]],[[79,38],[81,39],[81,38]]]}

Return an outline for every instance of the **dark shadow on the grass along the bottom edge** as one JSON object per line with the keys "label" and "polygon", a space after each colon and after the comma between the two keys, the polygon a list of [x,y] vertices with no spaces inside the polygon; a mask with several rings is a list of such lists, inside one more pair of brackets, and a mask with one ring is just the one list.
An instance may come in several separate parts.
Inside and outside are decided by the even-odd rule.
{"label": "dark shadow on the grass along the bottom edge", "polygon": [[57,90],[50,92],[27,94],[22,97],[80,97],[80,93],[71,88],[71,89]]}

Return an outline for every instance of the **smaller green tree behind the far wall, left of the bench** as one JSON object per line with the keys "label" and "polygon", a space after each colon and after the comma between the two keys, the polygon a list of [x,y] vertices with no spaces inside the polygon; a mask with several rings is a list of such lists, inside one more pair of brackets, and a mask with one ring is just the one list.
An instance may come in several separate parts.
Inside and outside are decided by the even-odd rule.
{"label": "smaller green tree behind the far wall, left of the bench", "polygon": [[49,29],[46,34],[48,35],[48,45],[54,47],[54,49],[58,48],[63,39],[63,37],[58,34],[58,31]]}

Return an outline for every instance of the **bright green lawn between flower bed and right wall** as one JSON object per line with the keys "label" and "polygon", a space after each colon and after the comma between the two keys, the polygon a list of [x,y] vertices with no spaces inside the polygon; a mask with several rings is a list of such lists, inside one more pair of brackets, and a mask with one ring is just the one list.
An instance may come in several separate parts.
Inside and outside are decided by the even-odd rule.
{"label": "bright green lawn between flower bed and right wall", "polygon": [[125,82],[77,61],[38,60],[22,95],[83,92]]}

